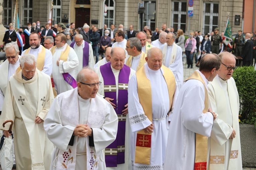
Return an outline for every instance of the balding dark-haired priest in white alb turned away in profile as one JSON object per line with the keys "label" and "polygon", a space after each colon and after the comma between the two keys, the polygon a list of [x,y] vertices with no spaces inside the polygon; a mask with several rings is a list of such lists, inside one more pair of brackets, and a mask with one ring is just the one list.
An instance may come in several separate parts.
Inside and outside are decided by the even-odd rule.
{"label": "balding dark-haired priest in white alb turned away in profile", "polygon": [[207,137],[216,119],[209,109],[207,84],[220,66],[217,54],[207,54],[182,85],[170,122],[164,170],[206,169]]}

